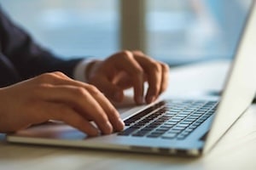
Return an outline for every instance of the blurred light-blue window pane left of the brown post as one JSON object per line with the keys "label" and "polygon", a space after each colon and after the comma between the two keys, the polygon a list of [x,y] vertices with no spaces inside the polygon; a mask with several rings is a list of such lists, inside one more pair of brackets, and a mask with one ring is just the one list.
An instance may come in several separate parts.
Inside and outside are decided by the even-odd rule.
{"label": "blurred light-blue window pane left of the brown post", "polygon": [[119,49],[117,0],[0,0],[16,23],[63,58]]}

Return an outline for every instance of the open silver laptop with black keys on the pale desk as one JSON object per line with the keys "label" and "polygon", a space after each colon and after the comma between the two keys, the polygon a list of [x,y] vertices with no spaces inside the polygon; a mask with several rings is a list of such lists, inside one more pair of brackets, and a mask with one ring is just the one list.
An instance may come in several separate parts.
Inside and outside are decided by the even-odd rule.
{"label": "open silver laptop with black keys on the pale desk", "polygon": [[162,99],[122,114],[123,132],[89,138],[62,122],[8,134],[22,144],[49,144],[161,155],[201,156],[247,110],[256,93],[256,7],[253,1],[222,95],[218,99]]}

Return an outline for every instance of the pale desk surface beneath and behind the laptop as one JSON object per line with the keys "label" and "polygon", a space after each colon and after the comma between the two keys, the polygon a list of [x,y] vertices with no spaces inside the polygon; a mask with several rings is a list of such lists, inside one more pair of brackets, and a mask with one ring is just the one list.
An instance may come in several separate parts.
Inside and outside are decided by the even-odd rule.
{"label": "pale desk surface beneath and behind the laptop", "polygon": [[[223,86],[228,66],[226,62],[214,62],[173,69],[170,88],[163,96],[168,97],[178,94],[198,95],[203,94],[201,90],[219,90]],[[210,77],[208,77],[209,75]],[[256,153],[256,105],[252,105],[241,116],[211,152],[200,158],[151,156],[105,150],[9,144],[4,140],[4,135],[0,134],[0,169],[5,170],[254,170],[256,169],[254,153]]]}

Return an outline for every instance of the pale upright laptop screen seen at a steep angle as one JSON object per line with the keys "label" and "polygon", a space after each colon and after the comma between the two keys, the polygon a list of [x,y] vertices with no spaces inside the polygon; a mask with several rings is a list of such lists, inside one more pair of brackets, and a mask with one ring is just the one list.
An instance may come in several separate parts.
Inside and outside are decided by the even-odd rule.
{"label": "pale upright laptop screen seen at a steep angle", "polygon": [[213,119],[212,128],[207,137],[204,152],[210,150],[218,139],[236,122],[236,119],[247,110],[256,93],[256,7],[252,3],[247,14],[235,59],[227,78],[224,94],[221,97],[218,111]]}

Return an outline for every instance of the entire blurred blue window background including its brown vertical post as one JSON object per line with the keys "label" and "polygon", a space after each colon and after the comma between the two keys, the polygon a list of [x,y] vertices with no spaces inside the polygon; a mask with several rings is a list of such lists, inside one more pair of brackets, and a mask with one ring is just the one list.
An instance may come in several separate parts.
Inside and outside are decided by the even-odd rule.
{"label": "entire blurred blue window background including its brown vertical post", "polygon": [[182,65],[231,59],[251,0],[0,0],[37,42],[61,58],[140,49]]}

